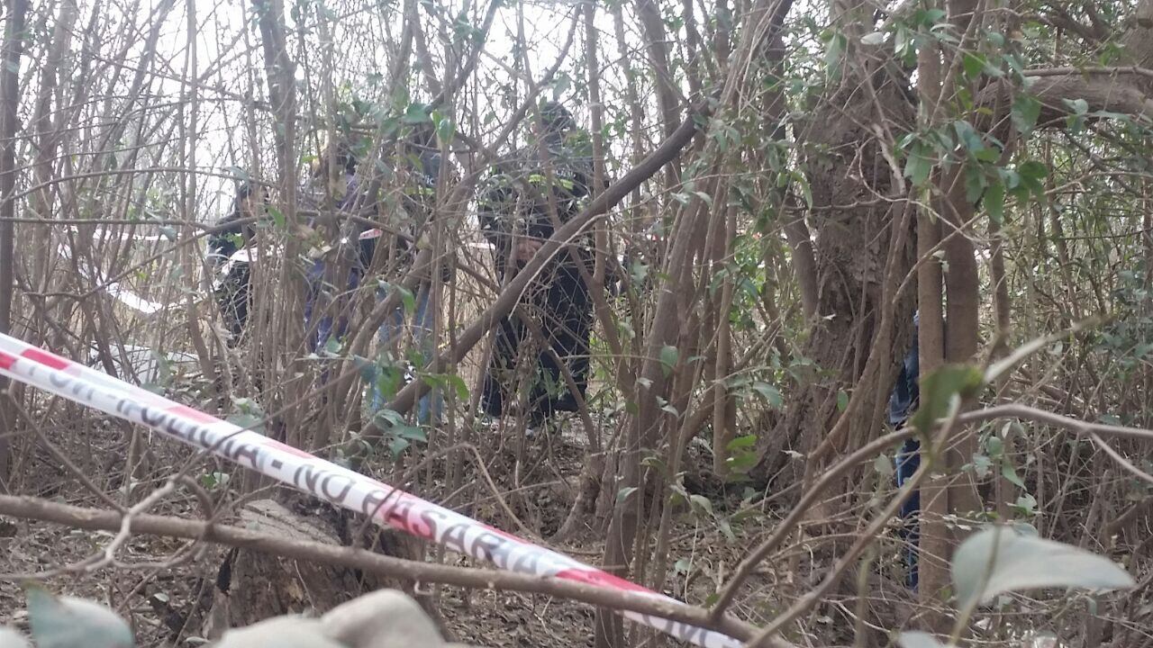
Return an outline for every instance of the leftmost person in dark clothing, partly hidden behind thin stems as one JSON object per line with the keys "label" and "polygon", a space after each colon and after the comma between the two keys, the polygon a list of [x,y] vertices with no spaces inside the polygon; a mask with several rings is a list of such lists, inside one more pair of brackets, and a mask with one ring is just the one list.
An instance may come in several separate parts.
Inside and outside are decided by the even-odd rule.
{"label": "leftmost person in dark clothing, partly hidden behind thin stems", "polygon": [[248,324],[251,304],[251,247],[256,238],[256,218],[263,206],[263,191],[244,181],[236,187],[232,210],[218,223],[219,229],[209,236],[209,262],[213,271],[212,293],[235,344]]}

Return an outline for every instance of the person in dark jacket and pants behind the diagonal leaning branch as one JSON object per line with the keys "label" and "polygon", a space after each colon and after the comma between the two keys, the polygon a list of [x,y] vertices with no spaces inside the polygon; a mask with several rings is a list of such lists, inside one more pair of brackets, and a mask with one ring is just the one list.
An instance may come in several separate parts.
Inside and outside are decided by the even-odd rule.
{"label": "person in dark jacket and pants behind the diagonal leaning branch", "polygon": [[[587,146],[579,145],[581,134],[574,133],[572,114],[550,101],[542,106],[541,118],[548,166],[542,168],[540,146],[534,142],[499,165],[481,194],[481,228],[492,243],[502,282],[552,236],[550,204],[556,206],[555,217],[565,223],[580,211],[581,199],[589,194],[591,156]],[[527,393],[525,414],[530,425],[556,412],[578,409],[565,370],[583,398],[593,303],[581,264],[591,277],[587,246],[562,248],[529,284],[517,311],[499,323],[482,394],[489,415],[504,414],[518,393]]]}

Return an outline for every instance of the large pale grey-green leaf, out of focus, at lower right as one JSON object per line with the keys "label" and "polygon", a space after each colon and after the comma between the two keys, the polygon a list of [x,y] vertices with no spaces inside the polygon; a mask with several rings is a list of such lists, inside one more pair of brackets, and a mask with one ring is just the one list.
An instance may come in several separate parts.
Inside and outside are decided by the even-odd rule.
{"label": "large pale grey-green leaf, out of focus, at lower right", "polygon": [[1000,527],[979,532],[952,557],[960,608],[997,595],[1048,587],[1128,589],[1136,585],[1113,560],[1083,549]]}

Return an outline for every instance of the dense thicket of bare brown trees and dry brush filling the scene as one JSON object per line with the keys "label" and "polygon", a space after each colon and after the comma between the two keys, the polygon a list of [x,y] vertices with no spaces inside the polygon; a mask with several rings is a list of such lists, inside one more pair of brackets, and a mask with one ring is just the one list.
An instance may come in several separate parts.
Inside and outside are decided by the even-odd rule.
{"label": "dense thicket of bare brown trees and dry brush filling the scene", "polygon": [[[603,565],[751,646],[1153,646],[1153,1],[8,0],[0,21],[0,332]],[[502,282],[476,191],[545,99],[587,131],[593,194]],[[378,264],[387,301],[351,292],[347,339],[309,353],[304,272],[331,241],[303,179],[325,142],[395,151],[412,122],[455,167],[420,253]],[[402,188],[378,175],[383,209],[346,220],[391,213]],[[241,179],[269,209],[229,346],[204,242]],[[534,434],[477,416],[493,324],[576,236],[620,279],[594,291],[583,407]],[[399,443],[363,369],[399,367],[410,340],[389,355],[375,333],[430,276],[437,357],[387,407],[446,407]],[[942,378],[926,424],[894,432],[914,344]],[[0,623],[23,623],[22,579],[110,604],[142,646],[395,586],[462,642],[671,642],[623,624],[626,602],[514,580],[163,525],[106,552],[115,534],[75,511],[17,503],[119,517],[171,488],[150,513],[243,526],[274,504],[269,537],[484,566],[20,383],[0,421]],[[891,475],[913,434],[917,592],[895,518],[913,487]],[[955,548],[1005,522],[1136,588],[958,610]]]}

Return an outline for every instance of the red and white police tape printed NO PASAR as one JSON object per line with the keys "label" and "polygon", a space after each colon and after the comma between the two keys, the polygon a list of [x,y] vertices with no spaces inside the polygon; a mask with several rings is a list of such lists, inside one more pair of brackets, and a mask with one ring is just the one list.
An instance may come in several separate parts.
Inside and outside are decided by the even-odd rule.
{"label": "red and white police tape printed NO PASAR", "polygon": [[[377,523],[395,527],[473,558],[489,560],[503,570],[623,589],[683,604],[258,432],[3,334],[0,334],[0,375],[146,425],[362,513]],[[636,612],[624,612],[624,616],[703,648],[741,646],[740,641],[719,632],[680,621]]]}

